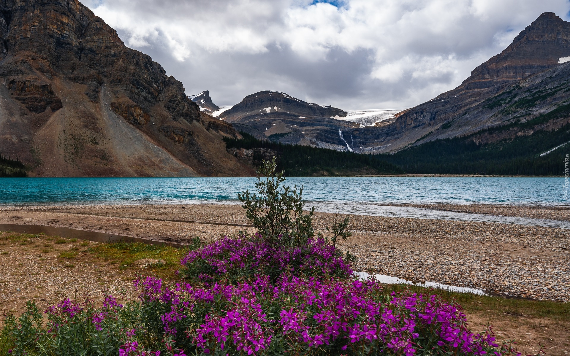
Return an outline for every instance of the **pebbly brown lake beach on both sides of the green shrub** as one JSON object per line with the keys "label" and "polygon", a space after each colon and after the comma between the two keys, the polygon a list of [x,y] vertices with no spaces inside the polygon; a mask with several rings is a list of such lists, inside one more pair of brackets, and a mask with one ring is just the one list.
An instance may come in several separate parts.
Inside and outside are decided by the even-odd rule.
{"label": "pebbly brown lake beach on both sides of the green shrub", "polygon": [[[496,209],[471,208],[478,214]],[[507,212],[523,215],[536,214],[535,210],[508,207]],[[546,218],[567,210],[540,212]],[[513,297],[570,301],[568,229],[341,215],[351,218],[353,236],[339,246],[357,257],[355,271],[479,288]],[[334,218],[329,212],[315,212],[315,232],[327,235],[325,227]],[[0,207],[0,223],[67,227],[177,244],[189,243],[194,237],[207,242],[253,229],[239,204]]]}

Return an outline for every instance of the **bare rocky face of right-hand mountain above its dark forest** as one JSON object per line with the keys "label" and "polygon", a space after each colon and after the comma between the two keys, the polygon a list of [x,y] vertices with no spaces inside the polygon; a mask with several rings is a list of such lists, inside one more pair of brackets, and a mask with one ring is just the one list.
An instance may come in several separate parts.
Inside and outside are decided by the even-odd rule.
{"label": "bare rocky face of right-hand mountain above its dark forest", "polygon": [[[504,110],[506,105],[512,104],[506,101],[492,105],[489,102],[506,92],[518,92],[519,84],[526,87],[536,81],[543,84],[533,91],[541,90],[540,85],[547,85],[543,73],[566,66],[567,63],[559,64],[559,58],[567,56],[570,56],[570,22],[553,13],[541,14],[503,52],[475,68],[459,87],[398,113],[376,127],[356,129],[353,134],[363,142],[367,152],[385,153],[437,138],[477,132],[512,120],[527,120],[555,109],[566,100],[565,94],[560,92],[556,100],[555,97],[534,100],[534,106],[527,105],[524,111],[523,107]],[[566,73],[561,71],[559,75]],[[557,80],[568,80],[568,76]],[[520,92],[518,98],[530,94]]]}

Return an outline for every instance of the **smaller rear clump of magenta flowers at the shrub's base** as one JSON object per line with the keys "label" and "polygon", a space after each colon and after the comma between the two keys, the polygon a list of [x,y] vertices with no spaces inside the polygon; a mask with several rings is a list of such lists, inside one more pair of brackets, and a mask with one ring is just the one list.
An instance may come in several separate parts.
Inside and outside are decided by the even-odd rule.
{"label": "smaller rear clump of magenta flowers at the shrub's base", "polygon": [[303,247],[272,245],[255,235],[252,238],[225,236],[203,248],[190,251],[181,261],[187,277],[217,280],[221,275],[237,277],[262,273],[272,278],[283,272],[305,275],[348,276],[349,264],[339,249],[323,238],[310,239]]}

